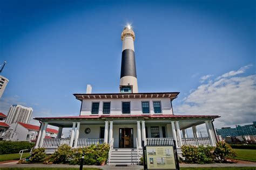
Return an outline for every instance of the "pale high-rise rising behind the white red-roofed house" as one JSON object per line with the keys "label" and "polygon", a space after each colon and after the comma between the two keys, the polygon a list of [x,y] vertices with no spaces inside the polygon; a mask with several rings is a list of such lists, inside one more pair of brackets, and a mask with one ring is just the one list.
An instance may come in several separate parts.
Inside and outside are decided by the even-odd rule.
{"label": "pale high-rise rising behind the white red-roofed house", "polygon": [[9,125],[15,122],[29,124],[32,112],[32,108],[26,108],[22,105],[13,104],[10,107],[5,123]]}

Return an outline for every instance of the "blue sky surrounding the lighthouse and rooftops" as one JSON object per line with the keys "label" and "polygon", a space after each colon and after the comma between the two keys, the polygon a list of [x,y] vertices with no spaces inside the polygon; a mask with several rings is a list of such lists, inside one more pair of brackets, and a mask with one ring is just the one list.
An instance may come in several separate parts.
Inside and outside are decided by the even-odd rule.
{"label": "blue sky surrounding the lighthouse and rooftops", "polygon": [[[0,62],[7,61],[2,75],[9,79],[0,100],[4,114],[22,104],[33,117],[79,115],[72,94],[85,93],[86,84],[93,93],[117,93],[120,34],[131,23],[140,92],[180,91],[174,112],[221,115],[219,128],[256,120],[255,1],[3,0],[0,12]],[[232,84],[237,93],[226,93],[235,91]],[[227,101],[208,101],[214,108],[194,102],[208,98],[202,86],[221,89]],[[228,122],[225,102],[237,105],[237,94],[239,104],[251,104],[228,108],[231,117],[244,115]]]}

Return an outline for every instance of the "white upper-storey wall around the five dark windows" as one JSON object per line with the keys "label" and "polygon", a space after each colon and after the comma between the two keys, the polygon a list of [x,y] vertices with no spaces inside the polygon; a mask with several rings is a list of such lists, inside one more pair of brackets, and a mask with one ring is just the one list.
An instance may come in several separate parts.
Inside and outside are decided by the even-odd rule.
{"label": "white upper-storey wall around the five dark windows", "polygon": [[[110,115],[123,115],[122,102],[130,102],[131,114],[142,115],[142,101],[150,102],[150,115],[154,115],[153,101],[161,102],[161,111],[163,115],[172,115],[170,98],[120,98],[120,99],[95,99],[83,100],[80,115],[92,115],[91,108],[92,102],[99,102],[99,114],[103,114],[103,102],[110,102]],[[143,114],[146,115],[146,114]],[[156,114],[159,115],[159,114]]]}

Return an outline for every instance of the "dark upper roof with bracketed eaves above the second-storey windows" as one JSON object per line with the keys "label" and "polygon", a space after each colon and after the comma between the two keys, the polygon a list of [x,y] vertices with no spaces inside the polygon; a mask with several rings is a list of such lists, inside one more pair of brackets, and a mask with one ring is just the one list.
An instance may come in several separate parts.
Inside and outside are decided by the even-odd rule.
{"label": "dark upper roof with bracketed eaves above the second-storey windows", "polygon": [[102,93],[102,94],[73,94],[80,101],[85,99],[99,98],[177,98],[179,92],[159,92],[159,93]]}

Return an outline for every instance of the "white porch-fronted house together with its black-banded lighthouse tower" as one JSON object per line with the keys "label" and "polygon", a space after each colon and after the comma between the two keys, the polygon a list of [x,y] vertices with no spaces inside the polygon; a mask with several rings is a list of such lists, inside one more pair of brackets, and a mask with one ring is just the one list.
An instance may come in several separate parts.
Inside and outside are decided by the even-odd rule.
{"label": "white porch-fronted house together with its black-banded lighthouse tower", "polygon": [[[119,93],[93,94],[91,86],[87,86],[86,94],[73,94],[82,104],[78,116],[35,118],[42,122],[36,147],[54,149],[61,144],[84,147],[109,143],[111,148],[119,150],[139,149],[142,141],[145,145],[170,145],[173,139],[178,147],[214,146],[217,138],[212,122],[219,116],[174,115],[172,101],[179,92],[139,93],[133,45],[135,36],[130,26],[124,28],[121,39],[123,51]],[[207,138],[199,138],[197,125],[200,124],[205,124]],[[44,139],[48,125],[59,128],[56,139]],[[72,128],[70,139],[60,138],[63,128]],[[193,138],[187,138],[187,128],[193,128]]]}

